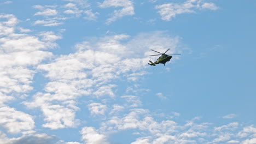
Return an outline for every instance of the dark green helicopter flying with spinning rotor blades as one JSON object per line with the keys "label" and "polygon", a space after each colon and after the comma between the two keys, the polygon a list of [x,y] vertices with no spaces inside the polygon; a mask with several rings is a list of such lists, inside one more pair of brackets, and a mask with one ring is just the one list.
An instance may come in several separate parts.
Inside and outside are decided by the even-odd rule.
{"label": "dark green helicopter flying with spinning rotor blades", "polygon": [[[170,49],[167,49],[165,51],[165,53],[170,50]],[[173,53],[173,54],[165,54],[165,53],[161,53],[161,52],[158,52],[158,51],[155,51],[155,50],[152,50],[154,52],[157,52],[157,53],[160,53],[158,55],[150,55],[150,56],[160,56],[158,58],[157,61],[155,61],[154,63],[152,61],[149,60],[150,63],[148,63],[149,65],[156,65],[156,64],[159,64],[159,63],[162,63],[165,65],[166,62],[170,61],[170,59],[172,58],[172,56],[169,56],[169,55],[181,55],[181,53]]]}

